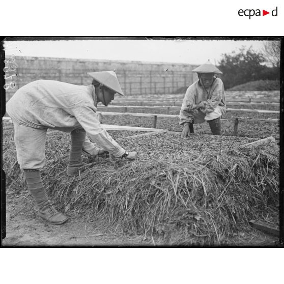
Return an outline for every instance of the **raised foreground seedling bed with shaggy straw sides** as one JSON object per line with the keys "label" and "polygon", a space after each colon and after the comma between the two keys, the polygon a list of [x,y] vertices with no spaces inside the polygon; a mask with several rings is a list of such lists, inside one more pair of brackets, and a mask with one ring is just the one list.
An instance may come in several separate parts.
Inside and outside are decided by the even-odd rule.
{"label": "raised foreground seedling bed with shaggy straw sides", "polygon": [[[119,141],[140,160],[101,159],[69,178],[69,136],[48,136],[43,180],[59,209],[164,245],[232,245],[250,219],[278,222],[277,145],[240,151],[251,139],[171,133]],[[3,145],[7,190],[26,190],[12,134]]]}

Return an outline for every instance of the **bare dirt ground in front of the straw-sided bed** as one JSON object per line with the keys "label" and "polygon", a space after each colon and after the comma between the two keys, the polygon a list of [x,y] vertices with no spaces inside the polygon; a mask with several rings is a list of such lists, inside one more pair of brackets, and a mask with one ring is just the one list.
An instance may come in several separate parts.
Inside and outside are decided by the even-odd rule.
{"label": "bare dirt ground in front of the straw-sided bed", "polygon": [[[56,205],[55,205],[56,207]],[[52,225],[42,220],[29,193],[6,195],[6,238],[3,247],[97,247],[97,246],[155,246],[163,245],[155,237],[117,234],[82,214],[70,211],[69,220],[62,225]],[[236,236],[240,246],[276,246],[278,238],[252,229],[249,234]]]}

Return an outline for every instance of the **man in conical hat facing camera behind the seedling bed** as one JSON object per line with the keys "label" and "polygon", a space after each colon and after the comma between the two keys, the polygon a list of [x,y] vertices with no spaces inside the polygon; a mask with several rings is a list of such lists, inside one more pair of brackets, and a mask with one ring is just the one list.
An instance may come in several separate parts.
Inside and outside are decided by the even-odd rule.
{"label": "man in conical hat facing camera behind the seedling bed", "polygon": [[222,74],[209,60],[193,69],[198,80],[188,87],[180,110],[181,137],[194,133],[193,124],[207,121],[213,135],[221,135],[220,118],[226,111],[224,85],[215,74]]}

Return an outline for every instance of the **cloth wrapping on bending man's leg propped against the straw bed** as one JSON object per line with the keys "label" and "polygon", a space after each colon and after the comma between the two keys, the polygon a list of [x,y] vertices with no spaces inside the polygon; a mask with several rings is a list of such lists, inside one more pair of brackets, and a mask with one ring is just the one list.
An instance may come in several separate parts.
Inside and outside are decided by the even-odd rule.
{"label": "cloth wrapping on bending man's leg propped against the straw bed", "polygon": [[84,129],[76,129],[71,132],[71,149],[68,166],[80,166],[82,164],[82,148],[86,137]]}

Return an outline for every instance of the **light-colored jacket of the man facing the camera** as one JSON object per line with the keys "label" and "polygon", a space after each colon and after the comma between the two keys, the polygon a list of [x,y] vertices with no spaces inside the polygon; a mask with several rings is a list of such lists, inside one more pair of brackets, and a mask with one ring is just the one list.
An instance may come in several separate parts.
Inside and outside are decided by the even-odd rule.
{"label": "light-colored jacket of the man facing the camera", "polygon": [[220,106],[222,115],[225,114],[226,97],[224,85],[220,78],[214,79],[209,91],[202,86],[200,80],[195,81],[188,87],[180,110],[180,124],[191,122],[191,111],[188,111],[188,107],[202,102],[204,103],[204,107],[200,108],[200,110],[204,113],[204,115],[214,111],[218,105]]}

